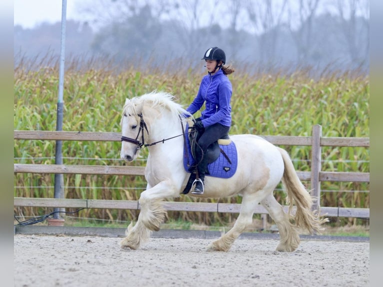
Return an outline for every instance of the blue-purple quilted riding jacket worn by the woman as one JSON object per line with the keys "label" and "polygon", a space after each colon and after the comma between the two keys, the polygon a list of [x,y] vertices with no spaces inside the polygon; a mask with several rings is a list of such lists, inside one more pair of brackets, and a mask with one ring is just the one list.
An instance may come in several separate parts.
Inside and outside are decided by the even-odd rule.
{"label": "blue-purple quilted riding jacket worn by the woman", "polygon": [[198,93],[192,103],[186,108],[191,114],[199,110],[203,102],[205,109],[201,112],[204,127],[214,123],[225,126],[231,125],[231,82],[221,69],[215,74],[203,76]]}

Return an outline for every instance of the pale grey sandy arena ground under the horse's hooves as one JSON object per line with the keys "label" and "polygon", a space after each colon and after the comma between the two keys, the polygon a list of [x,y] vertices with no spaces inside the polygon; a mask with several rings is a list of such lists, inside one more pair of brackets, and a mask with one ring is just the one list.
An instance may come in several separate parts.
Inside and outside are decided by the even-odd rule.
{"label": "pale grey sandy arena ground under the horse's hooves", "polygon": [[207,252],[210,239],[151,238],[140,250],[121,238],[14,235],[14,286],[368,286],[369,242],[237,239]]}

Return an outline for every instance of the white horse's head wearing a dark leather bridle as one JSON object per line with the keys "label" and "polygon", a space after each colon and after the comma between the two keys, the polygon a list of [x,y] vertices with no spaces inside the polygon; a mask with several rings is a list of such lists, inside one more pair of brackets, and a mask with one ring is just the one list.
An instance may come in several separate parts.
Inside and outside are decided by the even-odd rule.
{"label": "white horse's head wearing a dark leather bridle", "polygon": [[121,117],[121,152],[123,160],[131,161],[137,157],[137,151],[144,144],[144,134],[147,132],[146,123],[142,116],[143,104],[137,104],[133,99],[126,99]]}

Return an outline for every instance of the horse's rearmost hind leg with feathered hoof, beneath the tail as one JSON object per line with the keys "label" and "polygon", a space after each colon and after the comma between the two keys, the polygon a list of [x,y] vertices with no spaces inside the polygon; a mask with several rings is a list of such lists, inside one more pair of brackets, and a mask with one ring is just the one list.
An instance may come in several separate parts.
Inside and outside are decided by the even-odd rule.
{"label": "horse's rearmost hind leg with feathered hoof, beneath the tail", "polygon": [[279,244],[276,250],[294,251],[299,246],[300,238],[296,226],[290,222],[288,214],[283,211],[283,207],[272,194],[268,195],[260,203],[267,209],[271,218],[278,226]]}

